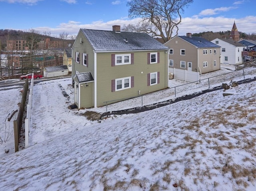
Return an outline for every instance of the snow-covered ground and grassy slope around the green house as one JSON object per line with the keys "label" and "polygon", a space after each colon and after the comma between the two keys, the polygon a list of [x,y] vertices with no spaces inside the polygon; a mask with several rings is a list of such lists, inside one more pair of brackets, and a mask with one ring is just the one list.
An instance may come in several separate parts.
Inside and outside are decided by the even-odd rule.
{"label": "snow-covered ground and grassy slope around the green house", "polygon": [[[210,87],[244,79],[242,71],[224,67],[232,69],[222,65],[201,79],[228,73],[210,79]],[[244,73],[256,77],[256,68]],[[169,81],[170,87],[184,83]],[[0,145],[0,190],[256,190],[256,82],[100,122],[84,113],[106,107],[68,109],[74,100],[70,84],[66,78],[34,86],[30,147],[14,153],[12,138]],[[207,88],[202,80],[176,91],[182,96]],[[19,90],[0,91],[2,122],[18,108]],[[143,104],[172,98],[170,88],[143,96]],[[134,98],[108,110],[140,105]]]}

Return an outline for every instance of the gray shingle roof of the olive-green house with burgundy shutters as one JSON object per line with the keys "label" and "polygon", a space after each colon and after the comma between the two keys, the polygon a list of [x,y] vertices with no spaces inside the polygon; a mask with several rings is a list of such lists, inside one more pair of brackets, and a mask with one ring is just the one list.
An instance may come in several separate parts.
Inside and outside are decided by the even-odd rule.
{"label": "gray shingle roof of the olive-green house with burgundy shutters", "polygon": [[81,29],[95,51],[165,50],[168,47],[146,33]]}

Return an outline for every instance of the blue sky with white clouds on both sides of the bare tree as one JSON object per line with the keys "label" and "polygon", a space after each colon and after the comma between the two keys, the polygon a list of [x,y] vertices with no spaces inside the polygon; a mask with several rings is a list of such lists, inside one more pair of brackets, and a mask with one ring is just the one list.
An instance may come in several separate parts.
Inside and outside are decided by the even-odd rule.
{"label": "blue sky with white clouds on both sides of the bare tree", "polygon": [[[179,35],[187,32],[231,30],[256,33],[255,0],[194,0],[182,14]],[[112,30],[136,24],[128,18],[127,0],[0,0],[1,29],[62,32],[76,35],[80,28]]]}

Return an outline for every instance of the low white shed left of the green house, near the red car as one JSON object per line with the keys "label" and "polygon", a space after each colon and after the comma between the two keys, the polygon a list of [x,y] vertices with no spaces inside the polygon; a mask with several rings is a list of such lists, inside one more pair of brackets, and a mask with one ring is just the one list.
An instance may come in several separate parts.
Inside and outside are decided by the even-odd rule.
{"label": "low white shed left of the green house, near the red car", "polygon": [[60,65],[60,66],[51,66],[45,67],[43,69],[44,77],[56,77],[56,76],[65,76],[68,75],[68,66]]}

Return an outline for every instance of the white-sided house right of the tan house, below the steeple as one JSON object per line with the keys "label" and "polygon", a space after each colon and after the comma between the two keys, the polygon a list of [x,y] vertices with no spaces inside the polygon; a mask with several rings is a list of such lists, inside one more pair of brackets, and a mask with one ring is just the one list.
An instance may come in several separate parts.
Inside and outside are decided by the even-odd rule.
{"label": "white-sided house right of the tan house, below the steeple", "polygon": [[211,41],[215,43],[220,48],[220,63],[221,64],[230,64],[230,65],[237,65],[244,62],[242,57],[242,51],[246,49],[246,47],[232,39],[219,39],[216,38]]}

